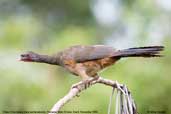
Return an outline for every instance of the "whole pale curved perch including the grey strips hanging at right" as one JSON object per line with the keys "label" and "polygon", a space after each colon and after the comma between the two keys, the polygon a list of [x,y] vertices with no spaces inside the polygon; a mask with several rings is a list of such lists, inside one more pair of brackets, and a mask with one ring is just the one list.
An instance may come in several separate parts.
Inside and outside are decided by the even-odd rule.
{"label": "whole pale curved perch including the grey strips hanging at right", "polygon": [[[101,84],[113,87],[113,92],[115,90],[114,88],[117,89],[116,102],[120,102],[120,103],[116,103],[117,109],[115,109],[115,112],[116,112],[115,114],[137,114],[137,109],[136,109],[134,100],[132,99],[129,90],[127,89],[127,87],[125,85],[119,84],[117,81],[104,79],[102,77],[98,77],[96,80],[94,80],[94,78],[91,78],[91,79],[89,79],[89,81],[91,81],[89,87],[96,83],[101,83]],[[84,83],[82,83],[82,81],[77,83],[76,85],[77,85],[76,87],[72,87],[70,89],[70,91],[68,92],[67,95],[65,95],[63,98],[61,98],[59,101],[57,101],[57,103],[50,110],[49,114],[58,114],[58,111],[67,102],[72,100],[75,96],[78,96],[81,91],[83,91],[87,88],[86,85]],[[120,97],[120,100],[119,100],[119,97]],[[110,98],[108,114],[110,113],[111,100],[112,100],[112,98]]]}

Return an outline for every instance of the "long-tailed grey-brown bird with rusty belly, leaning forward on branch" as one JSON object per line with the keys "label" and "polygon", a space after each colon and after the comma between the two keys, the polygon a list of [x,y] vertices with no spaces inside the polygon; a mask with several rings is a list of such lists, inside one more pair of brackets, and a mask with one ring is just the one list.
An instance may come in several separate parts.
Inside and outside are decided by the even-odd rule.
{"label": "long-tailed grey-brown bird with rusty belly, leaning forward on branch", "polygon": [[96,77],[104,68],[126,57],[161,57],[164,46],[145,46],[116,50],[106,45],[75,45],[53,55],[28,51],[21,54],[21,61],[47,63],[65,68],[83,82]]}

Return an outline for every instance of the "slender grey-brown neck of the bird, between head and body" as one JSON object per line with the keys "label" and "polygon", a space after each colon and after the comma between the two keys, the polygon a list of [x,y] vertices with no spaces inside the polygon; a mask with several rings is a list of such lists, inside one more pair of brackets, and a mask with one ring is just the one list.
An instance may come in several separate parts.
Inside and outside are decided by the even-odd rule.
{"label": "slender grey-brown neck of the bird, between head and body", "polygon": [[58,56],[39,55],[39,59],[35,62],[59,65],[59,58]]}

